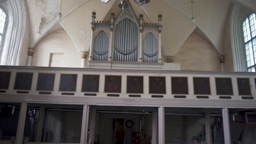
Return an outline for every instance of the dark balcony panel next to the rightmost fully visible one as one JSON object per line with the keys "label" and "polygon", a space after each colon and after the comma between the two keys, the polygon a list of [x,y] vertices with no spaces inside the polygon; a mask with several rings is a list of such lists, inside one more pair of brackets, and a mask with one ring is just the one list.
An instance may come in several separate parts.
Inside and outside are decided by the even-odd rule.
{"label": "dark balcony panel next to the rightmost fully visible one", "polygon": [[217,95],[233,95],[231,78],[216,78]]}

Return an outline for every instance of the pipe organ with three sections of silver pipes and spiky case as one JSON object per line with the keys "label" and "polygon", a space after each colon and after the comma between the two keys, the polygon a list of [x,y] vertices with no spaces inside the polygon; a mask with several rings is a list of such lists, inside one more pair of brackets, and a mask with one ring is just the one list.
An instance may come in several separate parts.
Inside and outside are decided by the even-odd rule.
{"label": "pipe organ with three sections of silver pipes and spiky case", "polygon": [[95,19],[93,12],[89,61],[161,63],[161,15],[158,23],[144,22],[130,4],[109,22]]}

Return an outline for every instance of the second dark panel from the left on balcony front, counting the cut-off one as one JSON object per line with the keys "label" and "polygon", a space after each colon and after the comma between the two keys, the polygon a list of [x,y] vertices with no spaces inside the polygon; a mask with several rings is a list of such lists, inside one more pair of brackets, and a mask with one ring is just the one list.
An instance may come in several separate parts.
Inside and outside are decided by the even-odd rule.
{"label": "second dark panel from the left on balcony front, counting the cut-off one", "polygon": [[31,90],[33,73],[17,73],[14,89]]}

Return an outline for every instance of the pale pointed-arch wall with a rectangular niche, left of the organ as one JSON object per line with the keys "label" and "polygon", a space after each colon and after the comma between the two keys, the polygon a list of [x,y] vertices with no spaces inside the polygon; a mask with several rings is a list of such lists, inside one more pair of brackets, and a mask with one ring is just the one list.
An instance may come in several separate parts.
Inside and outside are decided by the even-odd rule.
{"label": "pale pointed-arch wall with a rectangular niche, left of the organ", "polygon": [[47,35],[35,47],[33,66],[48,67],[50,53],[63,53],[63,67],[81,67],[80,51],[75,47],[69,35],[63,29],[59,29]]}

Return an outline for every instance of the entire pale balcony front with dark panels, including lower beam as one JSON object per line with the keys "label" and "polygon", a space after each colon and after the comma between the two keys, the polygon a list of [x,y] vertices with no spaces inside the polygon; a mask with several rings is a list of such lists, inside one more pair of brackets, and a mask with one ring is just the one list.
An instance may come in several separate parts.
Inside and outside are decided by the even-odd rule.
{"label": "entire pale balcony front with dark panels, including lower beam", "polygon": [[256,107],[255,73],[0,67],[0,101]]}

